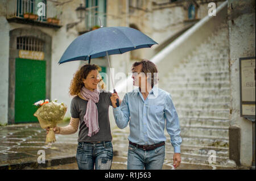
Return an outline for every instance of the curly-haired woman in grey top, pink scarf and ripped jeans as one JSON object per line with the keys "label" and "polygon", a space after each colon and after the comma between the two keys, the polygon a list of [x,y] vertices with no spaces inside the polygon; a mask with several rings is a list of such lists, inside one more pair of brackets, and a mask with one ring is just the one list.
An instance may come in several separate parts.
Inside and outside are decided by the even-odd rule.
{"label": "curly-haired woman in grey top, pink scarf and ripped jeans", "polygon": [[[71,121],[67,127],[55,127],[56,134],[73,134],[79,129],[77,165],[79,169],[110,169],[113,146],[109,123],[109,106],[112,106],[111,92],[97,89],[100,67],[84,65],[74,75],[69,94]],[[47,130],[48,131],[48,130]]]}

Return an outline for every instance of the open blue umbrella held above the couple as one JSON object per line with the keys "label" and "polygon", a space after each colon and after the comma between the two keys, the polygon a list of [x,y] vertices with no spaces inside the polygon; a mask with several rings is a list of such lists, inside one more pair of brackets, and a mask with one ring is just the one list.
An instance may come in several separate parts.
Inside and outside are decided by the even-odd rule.
{"label": "open blue umbrella held above the couple", "polygon": [[[122,54],[135,49],[151,48],[154,44],[158,43],[134,28],[101,27],[73,40],[60,58],[59,64],[76,60],[89,60],[90,64],[91,58],[104,56],[107,56],[109,63],[109,54]],[[110,77],[114,87],[111,73]],[[119,101],[117,101],[117,106],[119,106],[118,103]]]}

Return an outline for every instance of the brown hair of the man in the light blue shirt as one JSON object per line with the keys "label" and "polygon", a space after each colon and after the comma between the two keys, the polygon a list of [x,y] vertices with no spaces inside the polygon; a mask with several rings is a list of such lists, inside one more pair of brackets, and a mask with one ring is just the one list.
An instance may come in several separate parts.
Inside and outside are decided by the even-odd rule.
{"label": "brown hair of the man in the light blue shirt", "polygon": [[[158,83],[159,78],[158,78],[158,69],[156,68],[156,65],[149,61],[149,60],[142,60],[140,62],[135,62],[133,64],[133,68],[135,66],[141,65],[142,64],[142,72],[147,76],[147,73],[151,73],[151,77],[147,79],[147,81],[151,81],[151,88]],[[154,74],[155,73],[155,74]]]}

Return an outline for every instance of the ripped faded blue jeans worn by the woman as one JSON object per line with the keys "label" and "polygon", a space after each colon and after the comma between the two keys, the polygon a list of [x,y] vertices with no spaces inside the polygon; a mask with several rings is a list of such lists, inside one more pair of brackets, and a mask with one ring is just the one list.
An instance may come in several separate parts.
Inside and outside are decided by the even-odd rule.
{"label": "ripped faded blue jeans worn by the woman", "polygon": [[79,170],[110,170],[113,159],[111,141],[100,143],[79,142],[76,153]]}

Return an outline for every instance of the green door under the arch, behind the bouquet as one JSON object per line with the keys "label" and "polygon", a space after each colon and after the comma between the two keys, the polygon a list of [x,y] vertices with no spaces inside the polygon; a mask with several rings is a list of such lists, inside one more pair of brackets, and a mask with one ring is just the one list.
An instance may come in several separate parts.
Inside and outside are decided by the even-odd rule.
{"label": "green door under the arch, behind the bouquet", "polygon": [[36,122],[32,105],[46,99],[46,61],[16,58],[15,123]]}

